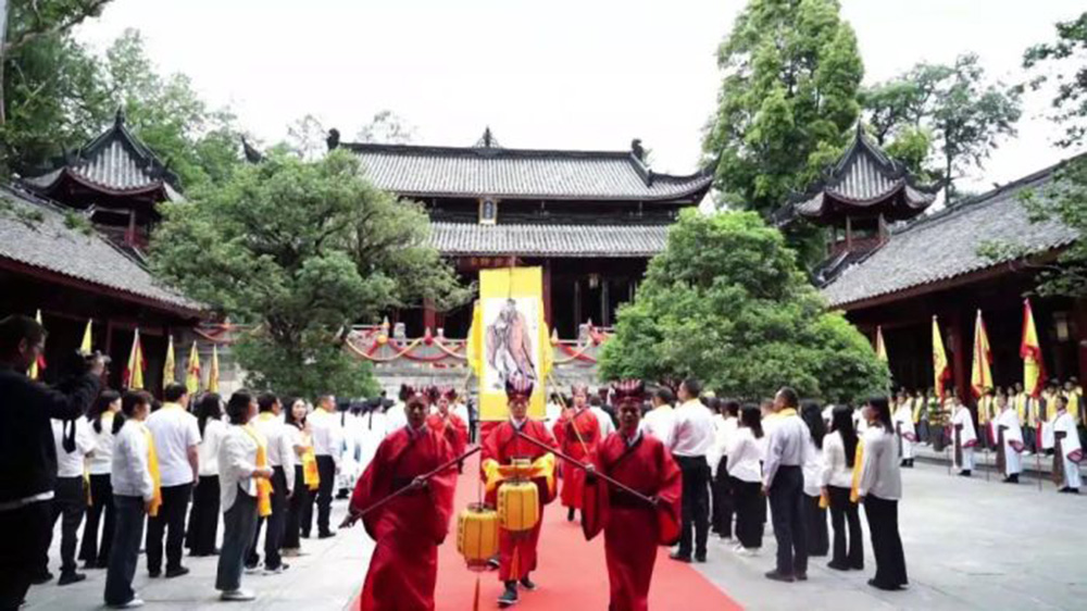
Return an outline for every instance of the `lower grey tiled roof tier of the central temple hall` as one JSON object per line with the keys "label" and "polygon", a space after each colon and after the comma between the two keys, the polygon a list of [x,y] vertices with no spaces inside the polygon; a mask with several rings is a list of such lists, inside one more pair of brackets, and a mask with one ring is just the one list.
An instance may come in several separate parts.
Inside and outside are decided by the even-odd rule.
{"label": "lower grey tiled roof tier of the central temple hall", "polygon": [[664,225],[478,225],[432,223],[430,245],[446,255],[652,257],[664,250]]}

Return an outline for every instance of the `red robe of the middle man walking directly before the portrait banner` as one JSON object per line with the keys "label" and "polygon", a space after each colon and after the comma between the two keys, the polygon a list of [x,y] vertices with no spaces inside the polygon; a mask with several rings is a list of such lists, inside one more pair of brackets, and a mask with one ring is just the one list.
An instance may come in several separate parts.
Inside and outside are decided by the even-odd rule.
{"label": "red robe of the middle man walking directly before the portrait banner", "polygon": [[[551,433],[541,422],[526,420],[522,433],[542,441],[550,448],[555,447]],[[535,461],[547,453],[548,451],[544,448],[520,438],[513,423],[505,421],[495,426],[483,442],[480,461],[491,459],[498,461],[499,464],[513,464],[515,458]],[[512,535],[504,528],[498,531],[498,578],[502,582],[521,579],[536,570],[536,547],[540,539],[540,527],[544,525],[544,506],[554,500],[554,497],[546,479],[538,478],[535,483],[536,487],[539,488],[540,499],[540,514],[536,520],[536,526],[532,531],[518,535]],[[487,494],[486,500],[492,507],[497,507],[497,488]],[[516,557],[516,562],[514,562],[514,557]],[[516,565],[514,566],[514,564]]]}

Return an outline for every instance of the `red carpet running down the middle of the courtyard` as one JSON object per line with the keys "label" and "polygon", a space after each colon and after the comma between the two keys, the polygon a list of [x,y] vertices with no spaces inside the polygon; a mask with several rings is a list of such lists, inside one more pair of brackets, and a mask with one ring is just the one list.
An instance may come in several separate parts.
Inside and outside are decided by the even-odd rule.
{"label": "red carpet running down the middle of the courtyard", "polygon": [[[457,487],[455,510],[476,500],[475,474],[478,460],[464,465],[464,475]],[[449,537],[438,550],[438,588],[435,599],[441,611],[471,611],[475,594],[476,574],[464,566],[457,553],[457,520],[450,524]],[[694,568],[667,558],[667,548],[661,548],[653,570],[653,585],[649,603],[651,609],[685,611],[732,611],[742,607],[728,598]],[[479,609],[498,609],[502,593],[498,572],[479,575]],[[580,526],[566,522],[565,508],[559,501],[544,511],[544,531],[540,535],[539,565],[533,573],[539,586],[536,591],[522,591],[515,611],[582,611],[608,609],[608,569],[604,565],[604,544],[601,534],[586,541]],[[361,586],[360,586],[361,587]],[[359,608],[355,600],[354,609]]]}

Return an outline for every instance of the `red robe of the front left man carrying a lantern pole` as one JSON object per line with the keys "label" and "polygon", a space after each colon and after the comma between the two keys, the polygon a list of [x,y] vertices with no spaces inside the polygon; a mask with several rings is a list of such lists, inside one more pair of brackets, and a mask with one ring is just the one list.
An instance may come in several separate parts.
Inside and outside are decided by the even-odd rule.
{"label": "red robe of the front left man carrying a lantern pole", "polygon": [[[363,509],[411,484],[418,475],[452,460],[443,437],[424,426],[404,426],[389,434],[359,477],[351,510]],[[430,477],[427,485],[405,492],[362,518],[376,541],[362,588],[363,611],[434,609],[438,579],[438,545],[449,532],[457,469]]]}

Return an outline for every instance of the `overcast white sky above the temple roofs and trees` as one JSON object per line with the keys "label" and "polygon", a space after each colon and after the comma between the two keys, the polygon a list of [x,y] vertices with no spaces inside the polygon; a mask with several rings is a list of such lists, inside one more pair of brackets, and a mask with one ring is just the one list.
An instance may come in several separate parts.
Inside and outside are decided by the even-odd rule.
{"label": "overcast white sky above the temple roofs and trees", "polygon": [[[713,112],[714,52],[746,0],[115,0],[80,29],[104,48],[140,29],[164,71],[192,77],[265,141],[307,113],[346,139],[382,109],[420,144],[471,145],[489,125],[507,147],[626,149],[641,138],[654,167],[688,173]],[[1053,36],[1083,0],[842,0],[865,82],[921,60],[977,52],[1017,79],[1023,50]],[[1027,98],[975,189],[1066,155]]]}

